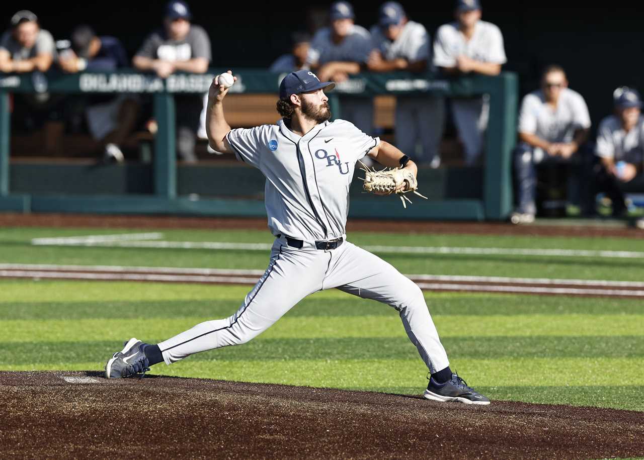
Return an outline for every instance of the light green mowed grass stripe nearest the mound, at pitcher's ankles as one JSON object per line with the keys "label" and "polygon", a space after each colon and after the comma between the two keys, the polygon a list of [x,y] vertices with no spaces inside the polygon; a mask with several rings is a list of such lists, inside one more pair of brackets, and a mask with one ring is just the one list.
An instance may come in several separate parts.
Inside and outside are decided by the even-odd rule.
{"label": "light green mowed grass stripe nearest the mound, at pitcher's ankles", "polygon": [[[109,356],[107,356],[109,358]],[[76,363],[6,365],[6,371],[44,369],[99,370],[106,358]],[[457,369],[473,387],[497,386],[644,386],[644,358],[453,358]],[[607,369],[619,369],[618,373]],[[155,365],[152,374],[214,378],[245,382],[285,383],[332,388],[421,387],[427,385],[427,369],[419,357],[390,360],[186,360]]]}

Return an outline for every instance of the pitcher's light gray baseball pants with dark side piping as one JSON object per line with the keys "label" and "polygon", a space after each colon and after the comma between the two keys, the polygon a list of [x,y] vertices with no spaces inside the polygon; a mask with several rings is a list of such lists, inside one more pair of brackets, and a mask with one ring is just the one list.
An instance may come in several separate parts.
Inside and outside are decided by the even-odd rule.
{"label": "pitcher's light gray baseball pants with dark side piping", "polygon": [[288,246],[285,237],[276,239],[268,268],[234,315],[197,324],[158,347],[166,364],[171,364],[200,351],[244,344],[307,295],[331,288],[396,309],[430,372],[448,367],[420,288],[392,265],[348,241],[333,250],[318,250],[307,242],[298,249]]}

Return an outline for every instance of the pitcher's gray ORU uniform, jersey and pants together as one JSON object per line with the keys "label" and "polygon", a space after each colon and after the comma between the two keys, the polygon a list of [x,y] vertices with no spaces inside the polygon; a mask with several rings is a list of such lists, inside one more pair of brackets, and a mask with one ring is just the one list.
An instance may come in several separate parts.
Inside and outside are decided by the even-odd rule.
{"label": "pitcher's gray ORU uniform, jersey and pants together", "polygon": [[[316,125],[300,137],[276,125],[233,129],[227,140],[239,160],[266,176],[266,210],[276,236],[269,266],[240,308],[205,321],[158,347],[166,364],[194,353],[252,340],[301,299],[337,288],[388,304],[431,373],[449,365],[422,291],[391,264],[348,241],[328,248],[315,241],[345,237],[354,163],[379,143],[344,120]],[[294,244],[291,239],[300,240]]]}

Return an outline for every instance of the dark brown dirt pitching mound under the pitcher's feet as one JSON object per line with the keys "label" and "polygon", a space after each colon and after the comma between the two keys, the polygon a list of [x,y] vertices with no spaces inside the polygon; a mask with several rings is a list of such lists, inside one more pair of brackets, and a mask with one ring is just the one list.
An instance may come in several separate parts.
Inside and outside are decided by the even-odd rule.
{"label": "dark brown dirt pitching mound under the pitcher's feet", "polygon": [[627,410],[102,373],[0,372],[6,458],[602,458],[644,455]]}

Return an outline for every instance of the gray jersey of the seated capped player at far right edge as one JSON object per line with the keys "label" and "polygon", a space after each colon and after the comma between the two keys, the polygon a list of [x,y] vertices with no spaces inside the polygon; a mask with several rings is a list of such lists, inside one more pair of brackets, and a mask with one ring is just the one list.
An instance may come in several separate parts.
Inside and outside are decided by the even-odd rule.
{"label": "gray jersey of the seated capped player at far right edge", "polygon": [[644,161],[644,116],[639,116],[637,124],[628,133],[615,115],[601,120],[595,152],[602,158],[641,165]]}

